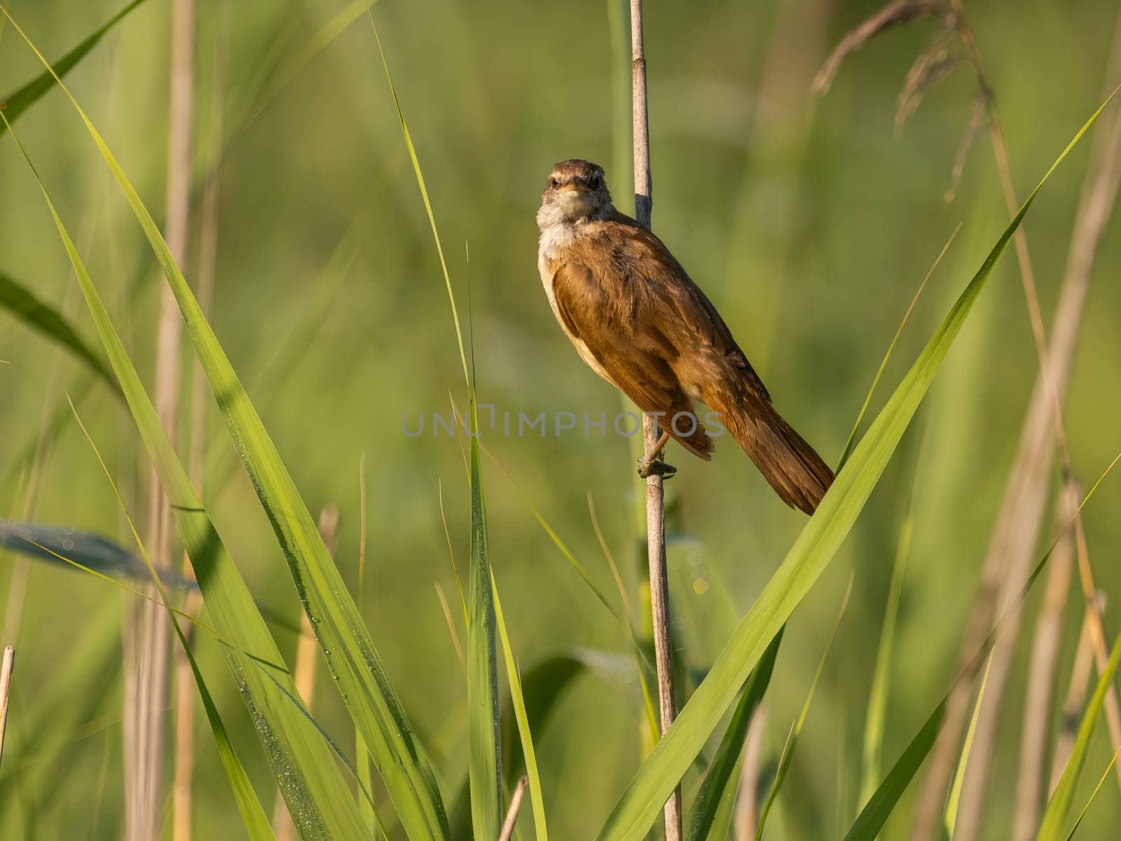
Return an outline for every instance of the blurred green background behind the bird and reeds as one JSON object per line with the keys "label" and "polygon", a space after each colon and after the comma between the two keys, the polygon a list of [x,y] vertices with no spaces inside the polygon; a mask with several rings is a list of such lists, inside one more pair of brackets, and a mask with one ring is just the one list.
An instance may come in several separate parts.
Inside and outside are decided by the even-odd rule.
{"label": "blurred green background behind the bird and reeds", "polygon": [[[215,95],[215,41],[228,39],[216,95],[232,127],[252,111],[256,80],[271,63],[282,65],[298,54],[343,4],[200,0],[200,170]],[[118,0],[8,3],[48,56],[61,55],[120,6]],[[460,312],[465,316],[470,309],[480,400],[515,417],[606,412],[610,418],[620,408],[617,394],[584,367],[554,322],[537,274],[534,222],[549,167],[568,157],[602,164],[617,204],[632,207],[629,118],[620,124],[619,117],[629,111],[629,62],[612,40],[609,7],[602,0],[385,0],[374,8]],[[779,409],[833,463],[904,309],[945,240],[962,222],[873,408],[1008,219],[983,133],[966,157],[956,198],[944,201],[976,91],[967,67],[933,86],[902,135],[895,131],[897,94],[935,22],[876,38],[845,62],[827,96],[810,94],[809,82],[832,46],[876,8],[830,0],[713,1],[650,3],[646,13],[654,228],[723,313]],[[1022,196],[1101,99],[1117,7],[1025,0],[971,3],[967,11]],[[168,27],[168,4],[146,3],[68,77],[152,209],[163,207],[166,186]],[[6,29],[0,90],[15,90],[39,70]],[[133,360],[150,377],[163,280],[141,232],[58,92],[36,104],[18,131]],[[1074,153],[1026,222],[1048,325],[1086,156],[1086,147]],[[197,231],[197,214],[193,221]],[[219,237],[215,330],[308,506],[340,506],[337,560],[351,582],[358,566],[359,460],[365,454],[363,609],[435,757],[445,798],[454,800],[465,769],[465,683],[433,583],[454,610],[439,495],[443,489],[462,566],[469,524],[465,438],[433,436],[430,426],[407,437],[401,424],[402,414],[409,424],[418,413],[429,420],[433,412],[446,415],[450,399],[462,410],[465,395],[428,221],[364,18],[228,146]],[[358,256],[335,279],[324,268],[346,237]],[[1091,280],[1065,413],[1074,470],[1087,484],[1121,444],[1119,259],[1121,243],[1111,224]],[[185,267],[188,280],[193,266],[194,257]],[[0,271],[63,307],[95,341],[36,185],[7,138],[0,138]],[[189,353],[184,359],[189,377]],[[65,405],[63,391],[82,387],[89,375],[7,314],[0,314],[0,512],[19,518],[26,495],[17,461],[34,445],[45,410],[55,412],[59,400]],[[948,687],[1036,369],[1023,292],[1009,253],[845,549],[787,632],[767,700],[770,764],[854,576],[852,603],[770,837],[834,838],[855,815],[868,687],[912,477],[915,538],[890,675],[886,763]],[[93,387],[81,414],[130,508],[142,512],[147,460],[128,414],[101,386]],[[219,529],[258,601],[296,621],[298,604],[284,561],[213,410],[210,429],[205,497]],[[484,433],[483,441],[494,459],[484,462],[492,563],[522,669],[565,649],[630,663],[618,625],[530,510],[531,505],[541,511],[614,598],[589,516],[591,492],[637,601],[645,560],[636,546],[630,443],[610,428],[606,436],[584,437],[580,424],[559,437]],[[698,673],[804,521],[773,497],[732,442],[719,444],[711,464],[679,450],[670,454],[679,468],[668,486],[675,506],[669,555],[677,643]],[[1121,545],[1119,502],[1121,488],[1110,481],[1085,510],[1099,585],[1111,594],[1121,588],[1113,563]],[[73,425],[50,454],[33,518],[129,545],[105,477]],[[1038,524],[1047,538],[1050,523],[1048,514]],[[6,556],[4,581],[11,564]],[[705,584],[692,586],[693,581]],[[7,598],[3,586],[0,597]],[[1029,621],[1038,595],[1029,599]],[[99,628],[112,631],[113,617],[131,599],[74,571],[33,564],[9,726],[9,750],[19,750],[22,763],[0,775],[4,838],[20,831],[30,838],[29,815],[38,838],[120,834],[119,675],[95,672],[80,684],[67,672],[66,657]],[[1081,611],[1068,610],[1067,619],[1060,693]],[[294,635],[277,634],[281,649],[294,650]],[[1026,638],[1021,634],[1004,700],[988,839],[1008,837],[1013,811]],[[206,635],[197,644],[234,741],[270,806],[268,767],[216,646]],[[602,662],[606,665],[582,675],[558,699],[555,718],[536,734],[559,839],[591,837],[641,759],[637,681],[615,668],[615,660]],[[106,683],[112,685],[102,697],[98,687]],[[328,683],[318,687],[317,713],[340,743],[351,746],[349,720]],[[70,722],[56,733],[65,761],[56,766],[59,774],[43,780],[46,788],[19,785],[34,778],[37,761],[36,746],[20,745],[20,719],[50,692],[63,693],[64,708],[73,700],[74,709],[82,709],[91,694],[96,703],[85,718],[72,720],[73,710],[71,718],[59,713]],[[209,736],[198,745],[196,832],[217,838],[239,819]],[[1110,752],[1101,734],[1087,777],[1096,782]],[[1085,837],[1109,837],[1105,828],[1115,826],[1119,804],[1109,782]],[[899,810],[884,838],[905,837],[906,811]]]}

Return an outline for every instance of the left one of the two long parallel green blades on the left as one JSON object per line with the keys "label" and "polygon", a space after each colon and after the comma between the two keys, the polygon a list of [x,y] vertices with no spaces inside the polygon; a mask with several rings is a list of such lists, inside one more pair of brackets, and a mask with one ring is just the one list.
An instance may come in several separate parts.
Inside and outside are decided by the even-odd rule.
{"label": "left one of the two long parallel green blades on the left", "polygon": [[[15,135],[12,139],[18,145]],[[22,153],[22,146],[19,148]],[[27,163],[39,181],[29,158]],[[151,400],[109,320],[101,296],[41,181],[39,188],[137,428],[172,501],[179,537],[191,557],[211,621],[226,640],[223,646],[226,663],[249,708],[293,819],[307,837],[356,838],[362,828],[361,819],[348,793],[345,779],[335,765],[335,755],[324,740],[323,732],[294,703],[296,690],[276,643],[175,455]]]}

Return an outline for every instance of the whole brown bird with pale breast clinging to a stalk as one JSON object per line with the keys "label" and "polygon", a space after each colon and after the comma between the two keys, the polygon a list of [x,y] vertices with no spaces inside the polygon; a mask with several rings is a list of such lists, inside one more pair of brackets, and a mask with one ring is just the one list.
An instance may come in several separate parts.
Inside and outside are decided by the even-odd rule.
{"label": "whole brown bird with pale breast clinging to a stalk", "polygon": [[[712,438],[693,414],[701,400],[782,501],[813,514],[833,472],[771,406],[716,307],[661,240],[612,206],[603,169],[586,160],[554,166],[537,225],[545,294],[581,358],[643,413],[664,413],[655,455],[673,437],[712,459]],[[657,469],[640,464],[643,475]]]}

